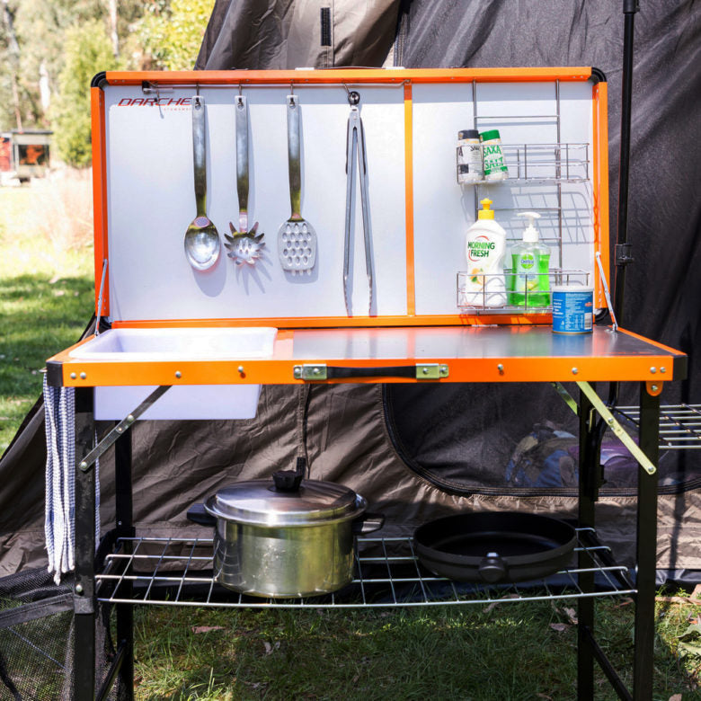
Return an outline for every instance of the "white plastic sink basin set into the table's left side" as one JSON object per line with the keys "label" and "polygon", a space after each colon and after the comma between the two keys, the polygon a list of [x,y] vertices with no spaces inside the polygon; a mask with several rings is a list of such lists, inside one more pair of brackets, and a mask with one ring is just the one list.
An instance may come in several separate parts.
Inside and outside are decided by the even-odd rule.
{"label": "white plastic sink basin set into the table's left side", "polygon": [[[70,355],[84,360],[244,360],[270,358],[278,330],[261,328],[111,329]],[[99,386],[94,417],[121,421],[155,390],[154,386]],[[142,419],[253,419],[260,385],[182,385],[171,387]]]}

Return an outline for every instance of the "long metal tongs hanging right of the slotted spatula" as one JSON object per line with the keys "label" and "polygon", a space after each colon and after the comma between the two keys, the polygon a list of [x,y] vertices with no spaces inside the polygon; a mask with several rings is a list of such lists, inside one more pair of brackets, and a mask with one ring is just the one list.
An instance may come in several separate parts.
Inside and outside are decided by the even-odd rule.
{"label": "long metal tongs hanging right of the slotted spatula", "polygon": [[[358,155],[360,176],[360,203],[363,210],[363,235],[365,239],[365,268],[368,272],[369,304],[368,315],[372,313],[372,253],[370,251],[370,223],[368,202],[368,161],[365,154],[365,134],[360,119],[358,104],[360,95],[352,90],[348,93],[351,114],[348,115],[348,133],[346,135],[346,232],[343,244],[343,296],[346,300],[346,313],[351,314],[351,297],[349,295],[349,269],[351,265],[351,207],[353,188],[355,187],[355,161]],[[350,165],[350,168],[349,168]]]}

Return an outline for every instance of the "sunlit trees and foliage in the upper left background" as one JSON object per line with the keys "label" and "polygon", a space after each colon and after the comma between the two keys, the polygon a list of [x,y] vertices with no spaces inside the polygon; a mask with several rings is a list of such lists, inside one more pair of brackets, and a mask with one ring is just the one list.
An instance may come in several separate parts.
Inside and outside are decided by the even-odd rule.
{"label": "sunlit trees and foliage in the upper left background", "polygon": [[0,129],[53,129],[58,156],[89,165],[93,75],[193,67],[213,6],[214,0],[0,0]]}

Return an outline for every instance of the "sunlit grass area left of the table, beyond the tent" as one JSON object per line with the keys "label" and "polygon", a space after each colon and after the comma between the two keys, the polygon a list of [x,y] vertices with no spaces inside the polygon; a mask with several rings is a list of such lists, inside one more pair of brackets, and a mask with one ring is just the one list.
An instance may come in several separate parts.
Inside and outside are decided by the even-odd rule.
{"label": "sunlit grass area left of the table, beyond the tent", "polygon": [[62,248],[22,227],[50,221],[42,193],[0,188],[0,454],[41,394],[46,359],[78,340],[93,310],[92,245]]}

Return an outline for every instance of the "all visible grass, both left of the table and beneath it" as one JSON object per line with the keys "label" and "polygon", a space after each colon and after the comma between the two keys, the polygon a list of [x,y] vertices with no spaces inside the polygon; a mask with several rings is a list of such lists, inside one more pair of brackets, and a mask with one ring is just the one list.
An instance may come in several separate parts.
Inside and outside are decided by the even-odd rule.
{"label": "all visible grass, both left of the table and beneath it", "polygon": [[[77,340],[93,309],[91,246],[21,228],[42,201],[31,189],[0,189],[0,451],[40,395],[45,359]],[[51,220],[40,214],[34,221]],[[574,608],[567,600],[345,611],[141,606],[136,695],[567,701],[575,698]],[[599,643],[630,688],[633,604],[599,599],[597,609]],[[699,618],[699,606],[658,605],[656,700],[701,698]],[[614,697],[598,669],[596,686],[596,701]]]}

